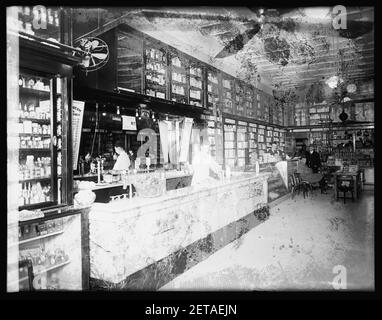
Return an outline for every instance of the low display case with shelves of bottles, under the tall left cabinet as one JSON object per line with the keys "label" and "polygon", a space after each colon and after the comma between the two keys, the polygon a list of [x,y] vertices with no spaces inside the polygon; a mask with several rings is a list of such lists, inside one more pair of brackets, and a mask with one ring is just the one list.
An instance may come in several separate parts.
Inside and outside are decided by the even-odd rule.
{"label": "low display case with shelves of bottles, under the tall left cabinet", "polygon": [[[19,261],[31,263],[34,290],[81,288],[80,234],[79,215],[19,226]],[[20,291],[31,290],[27,265],[20,265],[18,282]]]}

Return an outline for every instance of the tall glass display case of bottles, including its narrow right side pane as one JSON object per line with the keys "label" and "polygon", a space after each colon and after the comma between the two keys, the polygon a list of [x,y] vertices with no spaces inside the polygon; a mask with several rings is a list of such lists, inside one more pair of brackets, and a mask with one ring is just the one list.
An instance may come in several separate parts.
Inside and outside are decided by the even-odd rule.
{"label": "tall glass display case of bottles, including its narrow right side pane", "polygon": [[62,172],[61,81],[19,75],[19,210],[57,205]]}

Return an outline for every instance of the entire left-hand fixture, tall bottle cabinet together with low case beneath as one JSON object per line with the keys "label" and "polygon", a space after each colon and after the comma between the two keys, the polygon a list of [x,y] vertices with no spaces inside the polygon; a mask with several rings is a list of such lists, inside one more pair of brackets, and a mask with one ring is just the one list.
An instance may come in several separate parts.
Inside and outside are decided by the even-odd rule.
{"label": "entire left-hand fixture, tall bottle cabinet together with low case beneath", "polygon": [[7,31],[19,53],[7,81],[8,291],[81,289],[84,211],[73,206],[69,90],[80,59]]}

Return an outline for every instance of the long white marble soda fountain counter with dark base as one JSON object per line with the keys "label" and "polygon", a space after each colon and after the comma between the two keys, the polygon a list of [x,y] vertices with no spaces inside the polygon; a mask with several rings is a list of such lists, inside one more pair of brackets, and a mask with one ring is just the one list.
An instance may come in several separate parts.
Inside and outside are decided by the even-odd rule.
{"label": "long white marble soda fountain counter with dark base", "polygon": [[233,173],[229,180],[170,190],[158,197],[93,203],[89,213],[91,286],[157,289],[164,285],[195,264],[195,256],[185,262],[183,255],[179,266],[176,253],[208,239],[209,249],[203,249],[204,257],[208,256],[208,251],[259,223],[253,212],[267,203],[268,176]]}

